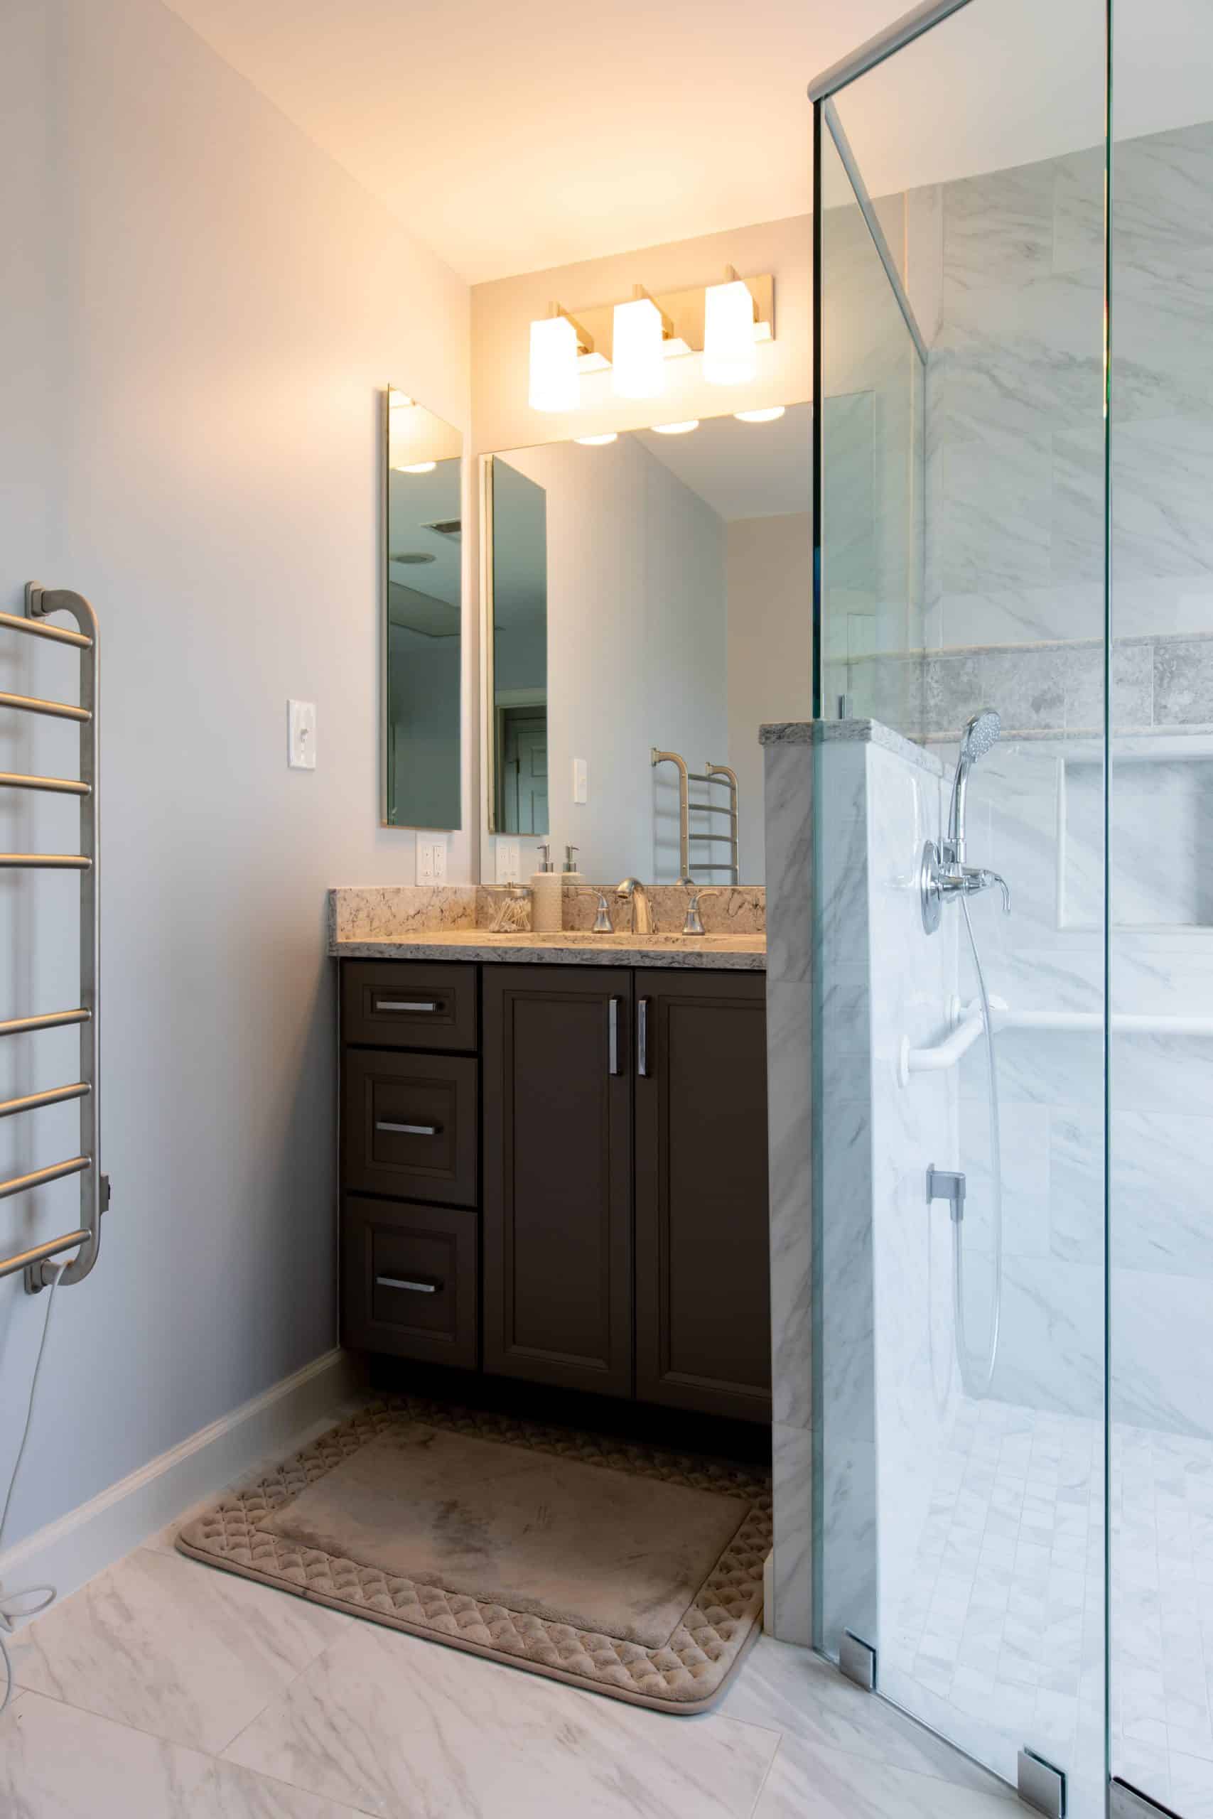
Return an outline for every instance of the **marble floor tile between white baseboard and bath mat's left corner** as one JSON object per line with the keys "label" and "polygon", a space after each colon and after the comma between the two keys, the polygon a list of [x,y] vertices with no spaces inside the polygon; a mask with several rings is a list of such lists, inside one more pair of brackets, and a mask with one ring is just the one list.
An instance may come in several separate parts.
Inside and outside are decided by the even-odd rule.
{"label": "marble floor tile between white baseboard and bath mat's left corner", "polygon": [[218,1754],[353,1617],[149,1548],[15,1641],[16,1684]]}

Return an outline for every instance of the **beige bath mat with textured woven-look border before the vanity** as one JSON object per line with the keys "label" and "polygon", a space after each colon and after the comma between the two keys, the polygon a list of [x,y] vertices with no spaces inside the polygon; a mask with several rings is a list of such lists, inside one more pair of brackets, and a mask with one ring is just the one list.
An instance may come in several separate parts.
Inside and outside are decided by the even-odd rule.
{"label": "beige bath mat with textured woven-look border before the vanity", "polygon": [[355,1617],[702,1712],[760,1624],[771,1493],[749,1466],[393,1397],[176,1544]]}

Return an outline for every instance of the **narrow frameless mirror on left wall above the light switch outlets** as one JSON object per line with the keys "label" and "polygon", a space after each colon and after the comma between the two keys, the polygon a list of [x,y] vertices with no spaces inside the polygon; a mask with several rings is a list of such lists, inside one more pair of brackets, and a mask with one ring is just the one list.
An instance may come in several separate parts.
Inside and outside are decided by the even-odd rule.
{"label": "narrow frameless mirror on left wall above the light switch outlets", "polygon": [[458,828],[464,438],[402,391],[384,417],[380,819]]}

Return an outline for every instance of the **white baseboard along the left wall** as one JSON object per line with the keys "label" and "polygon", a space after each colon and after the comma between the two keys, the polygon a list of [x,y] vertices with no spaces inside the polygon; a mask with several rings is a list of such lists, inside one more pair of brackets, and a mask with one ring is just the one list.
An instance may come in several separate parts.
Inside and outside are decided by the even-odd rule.
{"label": "white baseboard along the left wall", "polygon": [[275,1452],[287,1452],[307,1428],[331,1417],[358,1384],[349,1352],[322,1353],[0,1553],[0,1583],[53,1584],[65,1597],[191,1504],[218,1495]]}

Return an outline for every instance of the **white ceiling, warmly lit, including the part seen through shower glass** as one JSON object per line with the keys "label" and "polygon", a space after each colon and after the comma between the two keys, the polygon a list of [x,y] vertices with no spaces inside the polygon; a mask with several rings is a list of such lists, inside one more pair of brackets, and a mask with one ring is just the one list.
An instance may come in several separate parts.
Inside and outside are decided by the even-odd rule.
{"label": "white ceiling, warmly lit, including the part seen through shower glass", "polygon": [[[473,284],[809,207],[811,76],[907,0],[169,0]],[[873,195],[1100,133],[1104,0],[975,0],[846,95]],[[1124,136],[1213,115],[1213,4],[1124,0]]]}

